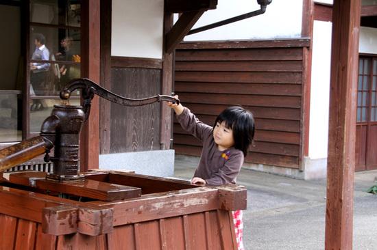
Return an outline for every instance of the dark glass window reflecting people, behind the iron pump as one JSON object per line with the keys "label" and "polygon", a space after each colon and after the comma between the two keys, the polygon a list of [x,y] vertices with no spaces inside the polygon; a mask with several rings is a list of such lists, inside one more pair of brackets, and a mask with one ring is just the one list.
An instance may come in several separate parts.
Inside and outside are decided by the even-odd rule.
{"label": "dark glass window reflecting people, behind the iron pump", "polygon": [[[72,79],[80,78],[81,31],[80,1],[30,1],[30,132],[39,133],[42,122],[54,105],[80,105],[80,92],[60,100],[60,91]],[[45,36],[49,56],[37,57],[35,36]],[[42,55],[42,53],[40,53]],[[33,66],[49,65],[34,79]],[[41,70],[42,71],[42,70]]]}

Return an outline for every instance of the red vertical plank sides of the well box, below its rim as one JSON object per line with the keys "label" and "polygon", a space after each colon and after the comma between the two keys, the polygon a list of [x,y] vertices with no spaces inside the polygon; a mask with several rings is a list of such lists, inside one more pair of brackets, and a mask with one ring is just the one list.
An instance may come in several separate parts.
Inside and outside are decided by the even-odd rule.
{"label": "red vertical plank sides of the well box, below its rim", "polygon": [[41,223],[0,213],[0,249],[236,249],[232,214],[212,210],[114,227],[98,236],[42,233]]}

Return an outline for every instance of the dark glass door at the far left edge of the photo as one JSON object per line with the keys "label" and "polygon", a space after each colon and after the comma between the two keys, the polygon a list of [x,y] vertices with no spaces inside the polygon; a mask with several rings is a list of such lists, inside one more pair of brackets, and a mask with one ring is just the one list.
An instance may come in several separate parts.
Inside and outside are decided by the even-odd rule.
{"label": "dark glass door at the far left edge of the photo", "polygon": [[22,139],[21,4],[0,3],[0,143]]}

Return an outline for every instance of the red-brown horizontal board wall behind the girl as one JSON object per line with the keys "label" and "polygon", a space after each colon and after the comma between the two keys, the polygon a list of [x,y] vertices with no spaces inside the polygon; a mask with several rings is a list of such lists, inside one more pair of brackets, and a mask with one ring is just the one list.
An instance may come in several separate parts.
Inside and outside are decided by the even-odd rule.
{"label": "red-brown horizontal board wall behind the girl", "polygon": [[[181,44],[175,54],[175,94],[211,126],[227,107],[250,109],[256,136],[245,162],[297,169],[308,44],[308,40]],[[176,119],[173,131],[175,154],[200,156],[201,142],[182,130]]]}

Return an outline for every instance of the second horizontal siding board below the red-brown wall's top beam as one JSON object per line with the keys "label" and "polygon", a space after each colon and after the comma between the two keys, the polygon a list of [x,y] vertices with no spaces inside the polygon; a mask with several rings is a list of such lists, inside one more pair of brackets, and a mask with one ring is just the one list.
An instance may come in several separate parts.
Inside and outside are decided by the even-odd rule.
{"label": "second horizontal siding board below the red-brown wall's top beam", "polygon": [[176,71],[302,72],[302,61],[177,61]]}

